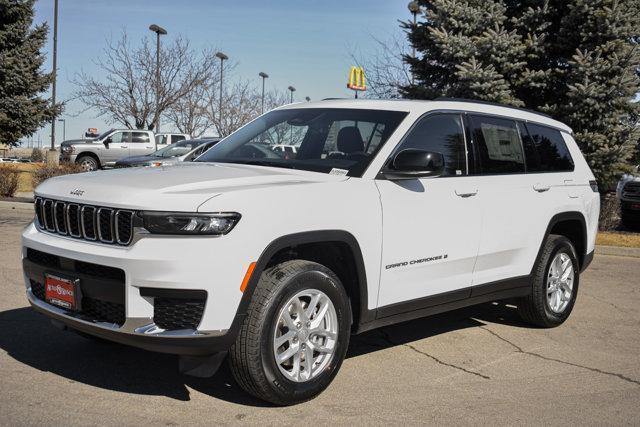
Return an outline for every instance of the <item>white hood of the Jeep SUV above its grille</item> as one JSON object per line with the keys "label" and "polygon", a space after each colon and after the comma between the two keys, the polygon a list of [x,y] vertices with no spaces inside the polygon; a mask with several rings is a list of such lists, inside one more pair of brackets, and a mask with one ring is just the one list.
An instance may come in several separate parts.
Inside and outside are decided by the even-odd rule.
{"label": "white hood of the Jeep SUV above its grille", "polygon": [[346,179],[263,166],[189,162],[59,176],[43,182],[35,194],[97,206],[194,212],[205,201],[226,192]]}

